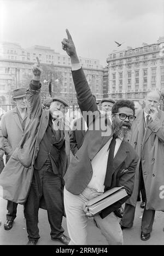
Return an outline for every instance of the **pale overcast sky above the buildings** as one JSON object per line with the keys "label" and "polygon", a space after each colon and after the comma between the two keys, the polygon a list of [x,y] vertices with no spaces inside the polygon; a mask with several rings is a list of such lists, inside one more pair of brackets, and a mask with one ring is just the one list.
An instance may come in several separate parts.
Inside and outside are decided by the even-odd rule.
{"label": "pale overcast sky above the buildings", "polygon": [[[0,0],[0,40],[50,46],[63,54],[65,29],[79,56],[106,65],[113,50],[164,36],[163,0]],[[114,40],[122,43],[118,48]]]}

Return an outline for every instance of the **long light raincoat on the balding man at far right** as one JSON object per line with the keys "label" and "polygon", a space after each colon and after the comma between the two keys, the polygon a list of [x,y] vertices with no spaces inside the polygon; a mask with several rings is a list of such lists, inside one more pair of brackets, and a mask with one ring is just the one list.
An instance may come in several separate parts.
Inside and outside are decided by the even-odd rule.
{"label": "long light raincoat on the balding man at far right", "polygon": [[157,117],[150,119],[144,131],[144,110],[140,110],[132,125],[130,143],[136,149],[139,160],[133,193],[126,203],[136,206],[141,160],[147,209],[164,211],[164,112],[158,110]]}

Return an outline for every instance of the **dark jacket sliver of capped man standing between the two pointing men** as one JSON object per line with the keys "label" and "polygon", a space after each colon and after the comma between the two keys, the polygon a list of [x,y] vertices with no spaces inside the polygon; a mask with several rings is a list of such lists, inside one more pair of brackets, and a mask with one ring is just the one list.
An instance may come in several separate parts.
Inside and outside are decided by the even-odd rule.
{"label": "dark jacket sliver of capped man standing between the two pointing men", "polygon": [[85,124],[84,124],[84,118],[79,118],[74,121],[73,129],[69,133],[70,137],[70,148],[72,151],[72,154],[75,155],[77,153],[78,149],[81,147],[81,144],[83,143],[83,139],[85,136]]}

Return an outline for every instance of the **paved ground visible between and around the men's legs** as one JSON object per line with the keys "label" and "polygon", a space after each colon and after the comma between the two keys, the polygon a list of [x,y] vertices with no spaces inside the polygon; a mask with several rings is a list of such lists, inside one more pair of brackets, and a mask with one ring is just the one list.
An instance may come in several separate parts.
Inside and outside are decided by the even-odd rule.
{"label": "paved ground visible between and around the men's legs", "polygon": [[[140,224],[143,209],[141,209],[139,205],[140,202],[137,203],[133,227],[123,230],[124,245],[164,245],[164,212],[156,212],[153,232],[151,233],[150,239],[148,241],[140,240]],[[0,199],[0,220],[2,222],[0,226],[0,245],[26,245],[28,238],[23,206],[18,205],[17,217],[14,221],[13,228],[8,231],[3,228],[6,218],[5,214],[7,213],[6,207],[7,201]],[[65,229],[65,234],[68,235],[65,217],[63,218],[62,225]],[[50,225],[45,210],[39,210],[38,226],[40,239],[37,245],[62,245],[60,242],[52,241],[50,238]],[[106,238],[101,235],[101,231],[93,223],[92,218],[89,218],[89,224],[87,226],[87,241],[88,245],[107,245]]]}

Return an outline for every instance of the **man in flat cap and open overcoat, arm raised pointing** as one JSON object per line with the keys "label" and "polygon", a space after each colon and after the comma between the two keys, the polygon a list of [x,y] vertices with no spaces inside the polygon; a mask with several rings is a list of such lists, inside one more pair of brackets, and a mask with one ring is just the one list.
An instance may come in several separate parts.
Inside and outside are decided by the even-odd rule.
{"label": "man in flat cap and open overcoat, arm raised pointing", "polygon": [[[63,176],[69,164],[69,125],[65,120],[68,102],[65,98],[55,97],[50,108],[43,109],[39,65],[34,65],[32,71],[33,79],[26,92],[30,127],[4,167],[8,168],[13,178],[12,186],[4,175],[4,169],[0,185],[3,187],[3,198],[10,197],[15,202],[25,203],[27,245],[36,245],[40,238],[39,208],[48,212],[51,239],[67,245],[69,237],[63,234],[62,217],[65,216]],[[16,165],[19,166],[19,173],[15,173]]]}

